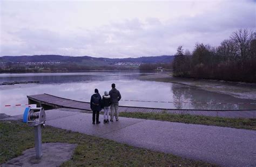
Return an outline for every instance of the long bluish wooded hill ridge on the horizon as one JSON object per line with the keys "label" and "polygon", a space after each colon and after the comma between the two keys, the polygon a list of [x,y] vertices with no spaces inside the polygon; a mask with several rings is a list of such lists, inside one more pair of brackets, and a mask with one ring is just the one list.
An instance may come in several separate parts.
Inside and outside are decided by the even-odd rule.
{"label": "long bluish wooded hill ridge on the horizon", "polygon": [[118,62],[134,62],[134,63],[170,63],[174,56],[151,56],[138,58],[124,58],[124,59],[110,59],[104,57],[90,57],[90,56],[62,56],[62,55],[33,55],[33,56],[2,56],[0,62],[98,62],[99,64],[113,64]]}

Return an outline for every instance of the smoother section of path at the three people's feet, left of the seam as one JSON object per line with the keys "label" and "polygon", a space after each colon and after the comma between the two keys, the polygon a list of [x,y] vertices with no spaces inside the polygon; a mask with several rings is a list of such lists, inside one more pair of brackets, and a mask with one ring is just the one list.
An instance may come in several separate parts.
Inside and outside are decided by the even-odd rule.
{"label": "smoother section of path at the three people's feet, left of the seam", "polygon": [[[60,115],[60,116],[58,116]],[[143,119],[122,118],[122,122],[114,121],[111,124],[103,124],[103,115],[100,115],[101,124],[92,125],[92,114],[69,112],[63,110],[49,110],[46,111],[46,125],[72,130],[73,132],[80,132],[94,136],[101,136],[109,134],[119,129],[137,124],[144,121]]]}

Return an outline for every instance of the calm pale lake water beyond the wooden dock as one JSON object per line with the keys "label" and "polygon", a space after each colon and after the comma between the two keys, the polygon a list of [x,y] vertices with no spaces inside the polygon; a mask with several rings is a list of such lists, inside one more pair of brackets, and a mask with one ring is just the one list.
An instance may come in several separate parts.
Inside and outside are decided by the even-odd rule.
{"label": "calm pale lake water beyond the wooden dock", "polygon": [[[106,71],[81,73],[41,73],[41,74],[0,74],[0,83],[14,81],[39,81],[34,84],[0,85],[0,113],[8,115],[23,114],[27,95],[49,93],[50,95],[90,101],[94,89],[100,95],[116,88],[122,95],[120,105],[143,106],[156,108],[190,108],[203,110],[239,110],[255,109],[256,100],[240,99],[230,95],[201,90],[195,86],[183,84],[141,81],[141,75],[151,73],[139,71]],[[139,100],[139,101],[131,101]],[[159,101],[159,102],[152,102]],[[234,104],[206,104],[206,103],[234,103]],[[21,106],[15,106],[21,104]],[[9,107],[5,105],[11,105]]]}

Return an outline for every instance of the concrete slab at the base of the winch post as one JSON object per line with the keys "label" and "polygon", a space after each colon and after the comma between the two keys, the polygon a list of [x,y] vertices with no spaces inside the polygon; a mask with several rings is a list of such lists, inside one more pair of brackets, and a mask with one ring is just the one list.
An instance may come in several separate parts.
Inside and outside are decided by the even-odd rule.
{"label": "concrete slab at the base of the winch post", "polygon": [[36,150],[32,148],[23,151],[23,155],[11,159],[2,166],[59,166],[71,158],[76,146],[69,143],[43,143],[41,158],[36,158]]}

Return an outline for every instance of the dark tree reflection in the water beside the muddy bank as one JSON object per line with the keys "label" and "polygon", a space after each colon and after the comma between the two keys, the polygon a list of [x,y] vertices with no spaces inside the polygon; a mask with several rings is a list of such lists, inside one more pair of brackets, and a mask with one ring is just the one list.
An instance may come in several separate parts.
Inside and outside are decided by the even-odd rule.
{"label": "dark tree reflection in the water beside the muddy bank", "polygon": [[[245,110],[255,109],[256,100],[239,99],[230,95],[201,90],[196,86],[172,84],[174,106],[178,109]],[[226,104],[225,104],[226,103]]]}

